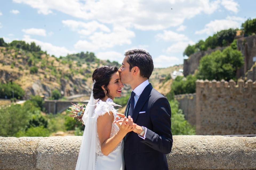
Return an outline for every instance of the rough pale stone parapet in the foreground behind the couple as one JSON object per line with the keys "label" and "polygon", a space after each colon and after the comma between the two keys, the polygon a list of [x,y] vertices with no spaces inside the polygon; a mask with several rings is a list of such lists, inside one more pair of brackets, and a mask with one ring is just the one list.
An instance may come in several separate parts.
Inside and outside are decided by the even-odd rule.
{"label": "rough pale stone parapet in the foreground behind the couple", "polygon": [[[74,170],[81,136],[0,137],[1,170]],[[256,137],[173,136],[170,170],[256,169]]]}

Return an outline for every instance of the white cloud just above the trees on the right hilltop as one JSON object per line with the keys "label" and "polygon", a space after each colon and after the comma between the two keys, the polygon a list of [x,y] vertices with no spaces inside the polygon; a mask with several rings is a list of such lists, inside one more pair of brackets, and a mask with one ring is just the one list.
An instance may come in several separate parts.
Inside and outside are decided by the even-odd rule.
{"label": "white cloud just above the trees on the right hilltop", "polygon": [[204,29],[196,31],[195,34],[205,33],[207,35],[211,35],[223,29],[239,28],[241,26],[241,23],[244,20],[245,19],[241,17],[234,17],[234,16],[233,17],[227,16],[226,19],[220,19],[220,20],[216,19],[206,24]]}

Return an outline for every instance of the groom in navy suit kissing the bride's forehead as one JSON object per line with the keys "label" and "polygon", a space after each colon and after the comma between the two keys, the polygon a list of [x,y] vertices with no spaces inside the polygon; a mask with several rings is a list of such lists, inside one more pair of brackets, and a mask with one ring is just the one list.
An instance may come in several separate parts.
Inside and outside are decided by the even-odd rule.
{"label": "groom in navy suit kissing the bride's forehead", "polygon": [[149,77],[154,69],[151,55],[145,50],[129,50],[119,68],[121,82],[132,88],[125,109],[136,129],[125,137],[126,170],[168,170],[165,154],[171,152],[171,108],[168,100],[156,91]]}

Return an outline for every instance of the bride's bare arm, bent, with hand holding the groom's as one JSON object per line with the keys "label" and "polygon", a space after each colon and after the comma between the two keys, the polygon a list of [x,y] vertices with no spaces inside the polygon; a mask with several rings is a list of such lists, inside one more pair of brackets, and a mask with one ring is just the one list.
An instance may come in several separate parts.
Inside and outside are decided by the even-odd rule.
{"label": "bride's bare arm, bent, with hand holding the groom's", "polygon": [[113,122],[113,113],[110,112],[110,115],[108,113],[105,113],[104,115],[98,117],[97,132],[99,136],[99,142],[101,144],[101,152],[103,155],[109,155],[119,144],[119,142],[121,142],[125,135],[128,132],[133,131],[136,127],[136,125],[133,125],[133,128],[129,129],[129,125],[133,124],[131,118],[128,118],[130,124],[125,123],[127,119],[126,117],[124,119],[125,121],[123,121],[122,126],[119,127],[119,131],[110,138]]}

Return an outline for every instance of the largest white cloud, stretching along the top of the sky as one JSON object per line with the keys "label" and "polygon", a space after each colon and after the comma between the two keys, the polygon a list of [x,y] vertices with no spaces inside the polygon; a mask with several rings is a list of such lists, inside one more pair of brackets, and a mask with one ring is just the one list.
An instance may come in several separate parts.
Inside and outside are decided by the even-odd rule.
{"label": "largest white cloud, stretching along the top of the sky", "polygon": [[[219,8],[220,0],[113,0],[113,1],[47,1],[13,0],[38,10],[41,14],[63,12],[76,18],[97,20],[103,24],[134,27],[141,30],[161,30],[181,25],[185,19],[198,14],[212,14]],[[185,3],[184,3],[185,2]],[[173,10],[170,10],[173,8]],[[87,30],[87,29],[85,29]],[[87,31],[80,33],[88,34]]]}

